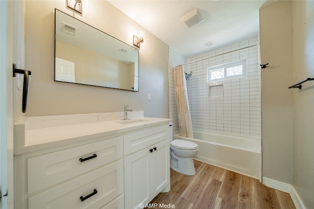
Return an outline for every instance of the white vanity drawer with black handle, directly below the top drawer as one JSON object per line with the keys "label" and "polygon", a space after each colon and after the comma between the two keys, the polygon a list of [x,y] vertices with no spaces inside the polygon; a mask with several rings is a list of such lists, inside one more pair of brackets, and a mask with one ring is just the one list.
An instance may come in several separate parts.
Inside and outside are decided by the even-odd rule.
{"label": "white vanity drawer with black handle, directly below the top drawer", "polygon": [[[124,192],[123,173],[121,159],[30,196],[28,208],[99,209]],[[81,201],[80,197],[86,199]]]}

